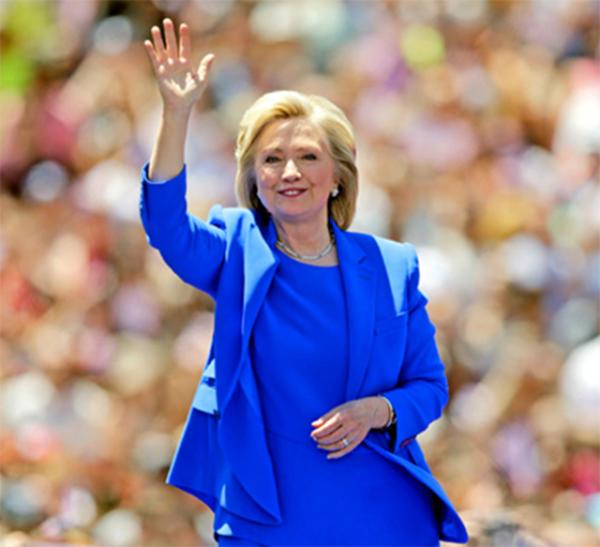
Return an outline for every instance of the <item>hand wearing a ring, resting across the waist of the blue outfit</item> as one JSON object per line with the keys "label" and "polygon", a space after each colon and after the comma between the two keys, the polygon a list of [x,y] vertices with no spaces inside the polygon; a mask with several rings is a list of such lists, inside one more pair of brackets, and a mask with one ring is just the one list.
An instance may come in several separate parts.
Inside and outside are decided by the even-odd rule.
{"label": "hand wearing a ring, resting across the waist of the blue outfit", "polygon": [[327,450],[327,459],[341,458],[352,452],[373,428],[388,420],[388,407],[381,397],[364,397],[336,406],[312,422],[310,436],[319,448]]}

